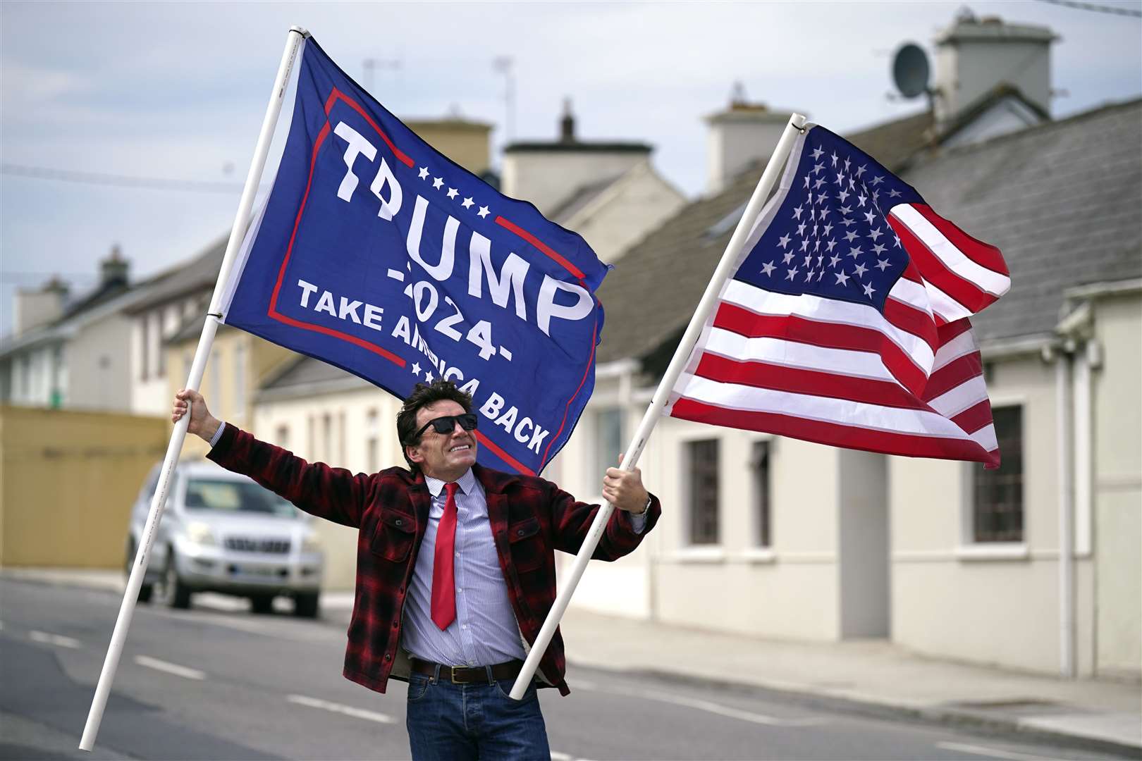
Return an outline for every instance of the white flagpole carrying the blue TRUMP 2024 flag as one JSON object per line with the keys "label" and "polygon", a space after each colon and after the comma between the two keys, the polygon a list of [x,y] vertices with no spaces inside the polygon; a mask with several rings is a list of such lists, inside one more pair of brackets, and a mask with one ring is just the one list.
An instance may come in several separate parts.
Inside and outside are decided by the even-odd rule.
{"label": "white flagpole carrying the blue TRUMP 2024 flag", "polygon": [[[202,373],[206,371],[207,358],[210,356],[210,345],[214,343],[215,333],[218,331],[219,317],[222,316],[219,309],[223,290],[231,267],[233,267],[234,257],[242,243],[246,226],[250,220],[254,196],[258,191],[258,183],[262,181],[262,170],[266,165],[270,143],[273,140],[274,128],[278,126],[278,115],[281,113],[282,99],[286,96],[286,87],[289,83],[290,72],[293,70],[293,62],[297,58],[297,51],[301,41],[307,37],[309,37],[309,33],[300,26],[291,26],[286,35],[286,50],[282,52],[282,60],[278,66],[274,89],[270,94],[266,118],[262,122],[262,132],[258,135],[258,143],[254,149],[254,161],[250,163],[250,171],[246,176],[246,187],[242,189],[242,199],[238,204],[234,226],[230,230],[226,254],[222,260],[222,269],[218,273],[218,281],[215,284],[214,296],[210,299],[206,324],[202,326],[199,347],[194,353],[194,362],[191,364],[191,374],[186,381],[186,388],[188,389],[196,390],[202,382]],[[79,743],[81,751],[90,751],[95,746],[95,737],[99,732],[99,723],[103,721],[103,710],[107,705],[107,695],[111,693],[111,682],[115,679],[119,658],[123,654],[123,641],[127,639],[127,630],[130,628],[131,617],[135,615],[135,604],[138,600],[139,586],[143,585],[143,575],[146,572],[147,560],[151,557],[151,545],[154,543],[155,529],[159,527],[159,519],[162,518],[162,508],[167,501],[170,475],[178,461],[178,454],[183,450],[183,440],[186,438],[186,428],[190,426],[190,422],[191,415],[190,410],[187,410],[187,414],[175,423],[170,443],[167,445],[167,456],[162,461],[159,483],[151,500],[151,511],[147,513],[146,527],[143,531],[143,541],[139,543],[138,552],[135,554],[135,562],[131,565],[131,575],[127,580],[127,591],[123,592],[123,602],[119,608],[119,618],[115,621],[115,629],[111,634],[111,645],[107,647],[107,656],[103,662],[103,671],[99,673],[99,682],[95,688],[95,697],[91,699],[91,710],[87,714],[83,737]]]}

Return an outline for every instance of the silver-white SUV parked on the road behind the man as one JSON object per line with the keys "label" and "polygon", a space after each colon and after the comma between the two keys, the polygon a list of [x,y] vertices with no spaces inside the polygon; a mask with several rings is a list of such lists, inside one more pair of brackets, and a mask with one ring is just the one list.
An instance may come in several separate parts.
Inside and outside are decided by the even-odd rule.
{"label": "silver-white SUV parked on the road behind the man", "polygon": [[[147,476],[131,510],[127,572],[146,527],[161,463]],[[155,594],[186,608],[194,592],[250,598],[268,613],[279,594],[298,616],[317,615],[324,554],[313,518],[246,476],[209,460],[180,462],[151,550],[139,601]]]}

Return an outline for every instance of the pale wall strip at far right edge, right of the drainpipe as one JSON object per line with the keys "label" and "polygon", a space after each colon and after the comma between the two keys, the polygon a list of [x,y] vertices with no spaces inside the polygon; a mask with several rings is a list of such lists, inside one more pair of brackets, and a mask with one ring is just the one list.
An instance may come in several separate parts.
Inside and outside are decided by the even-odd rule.
{"label": "pale wall strip at far right edge, right of the drainpipe", "polygon": [[1097,671],[1142,674],[1142,298],[1095,302],[1093,513]]}

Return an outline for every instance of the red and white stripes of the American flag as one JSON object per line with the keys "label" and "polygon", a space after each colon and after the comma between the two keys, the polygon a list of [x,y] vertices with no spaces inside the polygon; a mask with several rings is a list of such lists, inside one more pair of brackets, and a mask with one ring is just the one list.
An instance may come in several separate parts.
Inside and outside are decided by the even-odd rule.
{"label": "red and white stripes of the American flag", "polygon": [[967,317],[1011,285],[994,246],[927,207],[890,224],[911,258],[870,305],[730,281],[667,414],[886,454],[998,465],[983,363]]}

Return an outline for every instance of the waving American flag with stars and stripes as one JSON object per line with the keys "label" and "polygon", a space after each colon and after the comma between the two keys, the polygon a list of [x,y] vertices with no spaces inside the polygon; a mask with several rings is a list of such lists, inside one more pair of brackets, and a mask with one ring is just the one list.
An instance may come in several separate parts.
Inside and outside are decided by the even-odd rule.
{"label": "waving American flag with stars and stripes", "polygon": [[666,414],[998,467],[968,316],[1010,286],[998,249],[809,126]]}

